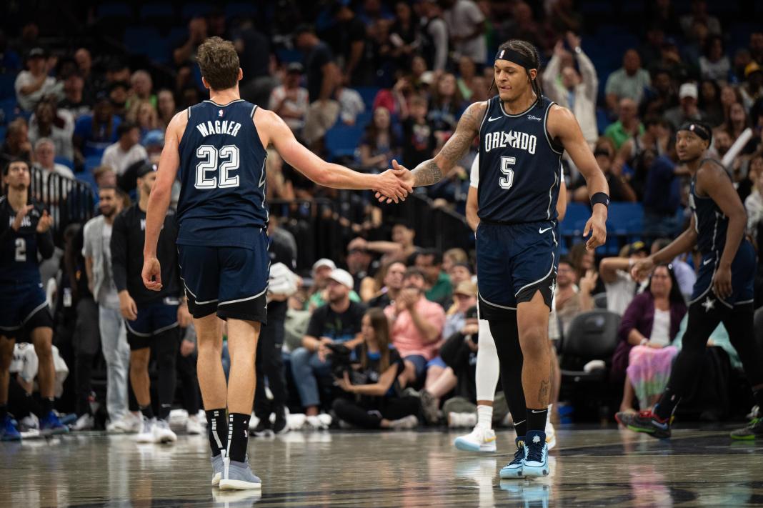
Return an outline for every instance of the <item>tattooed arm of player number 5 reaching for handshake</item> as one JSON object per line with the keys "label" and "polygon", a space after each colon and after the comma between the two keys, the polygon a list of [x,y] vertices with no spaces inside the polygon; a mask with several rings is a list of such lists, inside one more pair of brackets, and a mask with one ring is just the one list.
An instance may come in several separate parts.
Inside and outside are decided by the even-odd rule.
{"label": "tattooed arm of player number 5 reaching for handshake", "polygon": [[[405,173],[404,182],[413,187],[422,185],[432,185],[439,182],[443,175],[452,169],[453,166],[466,155],[469,146],[472,146],[475,136],[479,134],[479,127],[482,119],[488,111],[488,103],[475,102],[464,111],[456,126],[456,132],[446,141],[443,149],[433,158],[421,162],[410,172]],[[392,161],[393,169],[405,169],[398,162]],[[384,197],[377,195],[377,198],[384,200]]]}

